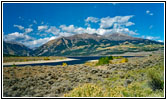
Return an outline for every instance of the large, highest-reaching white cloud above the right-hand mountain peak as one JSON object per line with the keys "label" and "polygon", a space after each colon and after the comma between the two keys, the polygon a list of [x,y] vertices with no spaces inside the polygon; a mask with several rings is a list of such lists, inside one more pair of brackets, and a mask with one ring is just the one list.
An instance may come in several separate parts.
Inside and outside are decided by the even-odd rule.
{"label": "large, highest-reaching white cloud above the right-hand mountain peak", "polygon": [[[130,16],[115,16],[115,17],[105,17],[100,20],[100,28],[111,28],[115,26],[115,28],[120,28],[124,26],[131,26],[134,23],[129,22],[129,19],[132,18],[133,15]],[[116,27],[117,26],[117,27]]]}

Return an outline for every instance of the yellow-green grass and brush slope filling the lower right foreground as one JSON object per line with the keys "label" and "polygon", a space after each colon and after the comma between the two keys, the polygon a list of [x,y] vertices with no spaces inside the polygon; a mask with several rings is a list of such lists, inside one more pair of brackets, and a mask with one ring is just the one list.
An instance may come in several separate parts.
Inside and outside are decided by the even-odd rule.
{"label": "yellow-green grass and brush slope filling the lower right foreground", "polygon": [[163,97],[163,62],[156,66],[130,71],[115,71],[112,77],[86,83],[64,94],[65,97]]}

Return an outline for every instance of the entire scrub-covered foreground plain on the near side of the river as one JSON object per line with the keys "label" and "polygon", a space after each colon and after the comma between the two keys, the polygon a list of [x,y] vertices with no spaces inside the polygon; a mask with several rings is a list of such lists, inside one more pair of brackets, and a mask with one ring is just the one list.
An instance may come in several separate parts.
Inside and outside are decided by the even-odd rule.
{"label": "entire scrub-covered foreground plain on the near side of the river", "polygon": [[126,63],[94,67],[3,67],[3,96],[163,97],[163,81],[164,54],[157,52],[128,58]]}

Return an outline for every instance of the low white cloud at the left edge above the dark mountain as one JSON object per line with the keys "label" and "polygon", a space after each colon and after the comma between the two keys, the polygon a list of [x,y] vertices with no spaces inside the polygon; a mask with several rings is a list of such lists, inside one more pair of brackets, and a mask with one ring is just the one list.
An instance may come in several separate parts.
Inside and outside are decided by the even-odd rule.
{"label": "low white cloud at the left edge above the dark mountain", "polygon": [[25,35],[23,33],[19,33],[19,32],[14,32],[8,35],[4,36],[4,40],[5,41],[17,41],[17,42],[23,42],[23,41],[29,41],[32,40],[33,38]]}

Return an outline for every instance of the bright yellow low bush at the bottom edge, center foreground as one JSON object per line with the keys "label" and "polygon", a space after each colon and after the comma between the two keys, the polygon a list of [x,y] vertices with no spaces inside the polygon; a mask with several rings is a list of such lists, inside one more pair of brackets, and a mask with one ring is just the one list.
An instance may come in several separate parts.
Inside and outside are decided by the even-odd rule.
{"label": "bright yellow low bush at the bottom edge, center foreground", "polygon": [[120,91],[116,91],[122,89],[103,89],[101,86],[97,84],[84,84],[83,86],[79,86],[74,88],[70,93],[65,94],[65,97],[122,97]]}

